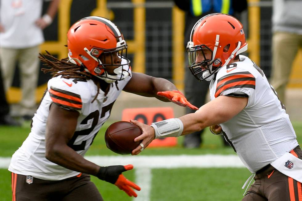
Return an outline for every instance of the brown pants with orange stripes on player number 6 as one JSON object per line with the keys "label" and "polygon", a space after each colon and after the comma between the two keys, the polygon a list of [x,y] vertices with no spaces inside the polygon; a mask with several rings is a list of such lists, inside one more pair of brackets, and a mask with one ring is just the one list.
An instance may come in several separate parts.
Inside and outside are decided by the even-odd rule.
{"label": "brown pants with orange stripes on player number 6", "polygon": [[[302,159],[299,146],[290,153]],[[282,174],[270,164],[257,171],[254,179],[255,182],[242,201],[302,201],[301,183]]]}

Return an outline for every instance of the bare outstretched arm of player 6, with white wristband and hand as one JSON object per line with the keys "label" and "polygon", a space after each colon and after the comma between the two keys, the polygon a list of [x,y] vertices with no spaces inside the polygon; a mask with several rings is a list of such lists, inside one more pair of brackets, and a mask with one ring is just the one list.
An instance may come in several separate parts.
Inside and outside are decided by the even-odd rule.
{"label": "bare outstretched arm of player 6, with white wristband and hand", "polygon": [[[160,122],[152,123],[151,126],[130,120],[141,128],[143,133],[134,139],[135,142],[141,141],[144,147],[155,138],[178,137],[187,135],[195,131],[200,131],[206,127],[224,123],[232,119],[247,106],[248,98],[235,98],[228,96],[219,96],[213,101],[206,103],[195,113],[190,113],[175,119],[165,119]],[[221,129],[221,128],[220,128]],[[215,131],[219,131],[219,127]],[[141,152],[141,145],[132,151],[132,155]]]}

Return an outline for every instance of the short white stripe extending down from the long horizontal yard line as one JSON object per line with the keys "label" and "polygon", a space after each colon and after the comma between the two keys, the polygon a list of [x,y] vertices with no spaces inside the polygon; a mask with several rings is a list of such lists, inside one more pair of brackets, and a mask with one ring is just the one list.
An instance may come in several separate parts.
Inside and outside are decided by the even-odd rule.
{"label": "short white stripe extending down from the long horizontal yard line", "polygon": [[141,191],[136,191],[135,201],[149,201],[151,191],[152,173],[150,168],[135,169],[135,183],[141,187]]}

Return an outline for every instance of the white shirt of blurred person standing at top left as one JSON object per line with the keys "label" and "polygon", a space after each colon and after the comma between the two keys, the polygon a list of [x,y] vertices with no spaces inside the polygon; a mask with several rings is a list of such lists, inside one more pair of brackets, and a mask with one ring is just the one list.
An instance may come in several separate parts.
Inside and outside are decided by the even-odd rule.
{"label": "white shirt of blurred person standing at top left", "polygon": [[0,46],[28,48],[44,42],[43,31],[35,25],[41,18],[43,0],[0,0]]}

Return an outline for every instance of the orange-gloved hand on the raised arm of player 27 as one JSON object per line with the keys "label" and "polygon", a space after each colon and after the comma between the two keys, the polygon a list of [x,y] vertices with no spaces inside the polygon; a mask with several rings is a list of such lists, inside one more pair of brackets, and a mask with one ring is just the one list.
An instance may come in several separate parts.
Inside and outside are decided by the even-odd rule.
{"label": "orange-gloved hand on the raised arm of player 27", "polygon": [[189,101],[187,101],[186,97],[182,94],[182,92],[178,90],[159,91],[157,92],[157,95],[168,98],[171,102],[180,105],[182,107],[189,107],[192,110],[198,110],[198,107],[195,107]]}

